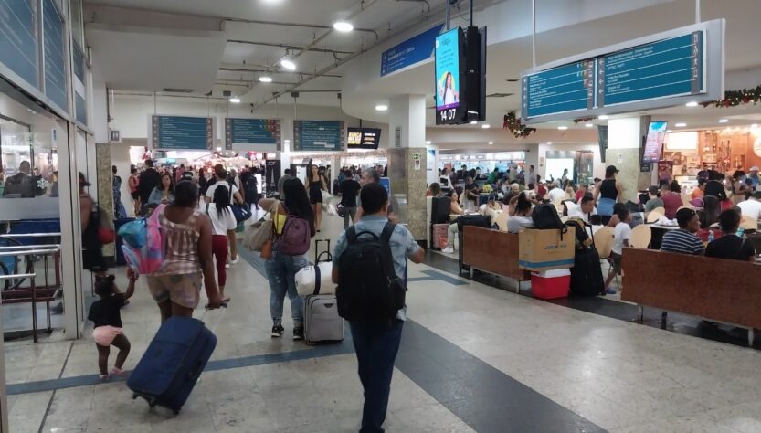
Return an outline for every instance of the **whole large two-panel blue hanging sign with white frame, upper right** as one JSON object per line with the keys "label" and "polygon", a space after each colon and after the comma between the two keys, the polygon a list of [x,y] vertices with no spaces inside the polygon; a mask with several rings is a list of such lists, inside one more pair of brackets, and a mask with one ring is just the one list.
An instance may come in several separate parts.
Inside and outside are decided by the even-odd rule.
{"label": "whole large two-panel blue hanging sign with white frame, upper right", "polygon": [[724,95],[724,20],[601,48],[522,75],[527,123],[659,109]]}

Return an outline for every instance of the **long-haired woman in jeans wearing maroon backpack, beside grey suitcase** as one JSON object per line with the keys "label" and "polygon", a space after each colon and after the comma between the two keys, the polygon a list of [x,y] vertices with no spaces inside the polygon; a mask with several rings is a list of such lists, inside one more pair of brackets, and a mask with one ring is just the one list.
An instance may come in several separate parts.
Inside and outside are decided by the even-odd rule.
{"label": "long-haired woman in jeans wearing maroon backpack, beside grey suitcase", "polygon": [[[304,300],[296,290],[296,272],[307,266],[309,261],[305,255],[292,256],[280,253],[278,243],[286,236],[285,227],[288,218],[305,219],[310,227],[310,237],[314,238],[314,211],[306,194],[306,188],[295,177],[283,184],[285,200],[280,201],[277,213],[272,216],[275,227],[275,240],[272,245],[270,259],[265,262],[267,280],[270,282],[270,315],[272,316],[272,338],[280,338],[285,332],[282,326],[282,308],[285,295],[291,300],[291,318],[293,319],[293,340],[304,339]],[[270,209],[274,199],[262,198],[259,206]]]}

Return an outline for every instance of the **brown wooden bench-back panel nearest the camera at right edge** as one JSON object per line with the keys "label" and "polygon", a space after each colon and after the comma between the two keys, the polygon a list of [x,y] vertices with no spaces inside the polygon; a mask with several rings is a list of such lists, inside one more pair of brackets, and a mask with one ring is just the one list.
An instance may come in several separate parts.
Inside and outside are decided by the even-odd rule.
{"label": "brown wooden bench-back panel nearest the camera at right edge", "polygon": [[681,312],[748,329],[761,328],[761,266],[741,260],[712,259],[624,248],[621,300],[643,307]]}

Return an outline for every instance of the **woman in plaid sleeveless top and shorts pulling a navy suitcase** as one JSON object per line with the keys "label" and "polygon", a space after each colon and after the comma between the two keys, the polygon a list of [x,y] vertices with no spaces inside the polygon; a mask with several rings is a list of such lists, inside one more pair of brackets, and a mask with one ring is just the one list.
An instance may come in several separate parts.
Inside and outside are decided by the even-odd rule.
{"label": "woman in plaid sleeveless top and shorts pulling a navy suitcase", "polygon": [[164,228],[166,253],[164,266],[148,275],[148,289],[159,304],[161,320],[172,316],[191,317],[198,306],[201,275],[209,303],[207,308],[222,305],[214,261],[211,253],[212,227],[209,217],[196,211],[198,187],[183,181],[174,188],[174,202],[157,212]]}

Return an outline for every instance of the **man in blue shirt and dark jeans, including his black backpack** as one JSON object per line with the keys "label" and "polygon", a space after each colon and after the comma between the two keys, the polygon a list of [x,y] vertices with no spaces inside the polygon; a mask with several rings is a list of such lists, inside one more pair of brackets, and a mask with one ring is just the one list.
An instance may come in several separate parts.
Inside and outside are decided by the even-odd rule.
{"label": "man in blue shirt and dark jeans, including his black backpack", "polygon": [[388,222],[388,193],[379,184],[360,192],[363,216],[337,240],[333,282],[338,312],[352,328],[365,388],[361,432],[382,432],[391,391],[391,375],[407,319],[407,258],[423,261],[425,251],[407,228]]}

